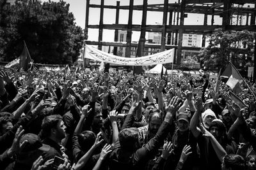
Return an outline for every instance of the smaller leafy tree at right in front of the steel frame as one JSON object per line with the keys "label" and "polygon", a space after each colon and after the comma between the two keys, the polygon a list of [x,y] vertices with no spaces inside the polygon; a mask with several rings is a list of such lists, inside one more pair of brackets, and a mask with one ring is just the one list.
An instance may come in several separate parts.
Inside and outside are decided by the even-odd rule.
{"label": "smaller leafy tree at right in front of the steel frame", "polygon": [[209,46],[201,52],[204,66],[220,69],[231,61],[237,68],[246,64],[253,54],[253,34],[249,31],[222,31],[216,29],[209,37]]}

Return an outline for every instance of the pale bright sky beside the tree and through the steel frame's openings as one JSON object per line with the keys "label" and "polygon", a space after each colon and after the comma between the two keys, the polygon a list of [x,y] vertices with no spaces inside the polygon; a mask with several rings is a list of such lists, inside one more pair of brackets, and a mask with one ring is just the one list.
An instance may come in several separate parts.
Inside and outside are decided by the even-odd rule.
{"label": "pale bright sky beside the tree and through the steel frame's openings", "polygon": [[[42,2],[48,0],[42,0]],[[51,0],[59,1],[59,0]],[[74,14],[76,18],[76,24],[84,29],[85,25],[85,13],[86,13],[86,0],[64,0],[70,4],[70,12]],[[178,0],[169,0],[169,3],[175,3]],[[164,0],[148,0],[148,4],[163,4]],[[90,0],[90,4],[100,4],[100,0]],[[116,5],[116,0],[105,0],[106,5]],[[134,0],[134,5],[143,4],[143,0]],[[129,0],[120,0],[120,6],[129,5]],[[115,24],[115,9],[104,9],[104,24]],[[120,10],[119,23],[128,23],[129,10]],[[100,8],[90,8],[89,11],[89,25],[99,25]],[[141,24],[142,11],[133,11],[132,24]],[[167,18],[168,20],[168,18]],[[214,25],[221,25],[221,18],[214,17]],[[163,22],[163,12],[148,11],[147,12],[147,24],[154,25]],[[211,24],[211,17],[208,17],[208,24]],[[184,19],[184,25],[203,25],[204,15],[202,14],[188,14],[188,18]],[[114,30],[103,31],[102,41],[114,41]],[[99,29],[88,29],[88,40],[97,41],[99,35]],[[147,34],[146,34],[147,36]],[[140,32],[132,32],[132,41],[139,41]]]}

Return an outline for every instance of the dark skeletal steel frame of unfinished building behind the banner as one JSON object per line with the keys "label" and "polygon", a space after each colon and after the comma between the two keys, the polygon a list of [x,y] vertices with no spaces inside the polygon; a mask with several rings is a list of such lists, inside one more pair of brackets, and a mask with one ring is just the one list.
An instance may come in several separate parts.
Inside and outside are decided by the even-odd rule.
{"label": "dark skeletal steel frame of unfinished building behind the banner", "polygon": [[[244,4],[250,4],[244,6]],[[100,8],[99,25],[89,25],[90,8]],[[104,9],[116,10],[115,24],[103,24]],[[127,24],[119,24],[119,11],[129,10]],[[134,10],[142,11],[142,22],[140,25],[132,24],[132,13]],[[163,12],[163,23],[159,25],[147,25],[147,11]],[[204,14],[204,25],[184,25],[184,18],[188,13]],[[169,15],[169,20],[167,21]],[[221,25],[214,24],[214,16],[222,18]],[[229,31],[256,31],[255,25],[256,3],[255,0],[182,0],[178,3],[168,3],[164,0],[163,4],[143,4],[134,5],[134,0],[129,1],[129,6],[120,6],[120,1],[116,1],[116,6],[105,5],[104,0],[100,4],[90,4],[86,0],[86,19],[84,34],[88,34],[88,29],[99,29],[98,41],[86,41],[88,45],[98,45],[99,50],[102,46],[114,46],[113,53],[116,55],[117,47],[125,47],[125,57],[130,57],[131,48],[137,47],[137,56],[143,56],[145,48],[165,49],[175,48],[175,65],[180,66],[182,50],[200,50],[198,47],[182,46],[182,36],[188,34],[202,34],[202,46],[205,46],[205,36],[209,35],[214,29],[222,28]],[[211,24],[207,25],[208,17],[211,17]],[[104,29],[115,30],[115,42],[102,42],[102,32]],[[127,31],[126,43],[118,41],[118,30]],[[132,31],[140,31],[140,41],[131,42]],[[161,45],[146,44],[145,32],[161,32]],[[167,39],[166,39],[167,38]],[[167,41],[166,41],[167,40]]]}

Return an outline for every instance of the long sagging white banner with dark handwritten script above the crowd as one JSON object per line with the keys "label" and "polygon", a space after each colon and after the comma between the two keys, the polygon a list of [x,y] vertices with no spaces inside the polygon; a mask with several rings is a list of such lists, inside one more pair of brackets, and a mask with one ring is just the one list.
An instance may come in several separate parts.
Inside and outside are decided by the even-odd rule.
{"label": "long sagging white banner with dark handwritten script above the crowd", "polygon": [[174,58],[174,48],[153,55],[147,55],[143,57],[128,58],[119,57],[106,53],[94,48],[93,46],[86,45],[86,52],[84,59],[92,59],[100,62],[106,62],[110,64],[126,65],[126,66],[148,66],[157,64],[172,63]]}

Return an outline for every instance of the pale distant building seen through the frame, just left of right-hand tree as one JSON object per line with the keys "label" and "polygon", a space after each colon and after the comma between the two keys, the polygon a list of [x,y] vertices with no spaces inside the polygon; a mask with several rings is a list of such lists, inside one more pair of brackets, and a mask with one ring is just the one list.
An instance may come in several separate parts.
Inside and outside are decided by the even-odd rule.
{"label": "pale distant building seen through the frame, just left of right-hand tree", "polygon": [[202,35],[183,34],[182,46],[202,47]]}

